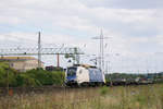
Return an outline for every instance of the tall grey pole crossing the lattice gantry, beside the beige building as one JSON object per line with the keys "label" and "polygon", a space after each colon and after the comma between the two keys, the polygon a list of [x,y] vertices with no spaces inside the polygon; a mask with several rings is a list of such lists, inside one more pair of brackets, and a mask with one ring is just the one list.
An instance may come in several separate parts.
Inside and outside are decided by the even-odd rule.
{"label": "tall grey pole crossing the lattice gantry, beside the beige building", "polygon": [[41,39],[40,32],[38,32],[38,69],[41,68]]}

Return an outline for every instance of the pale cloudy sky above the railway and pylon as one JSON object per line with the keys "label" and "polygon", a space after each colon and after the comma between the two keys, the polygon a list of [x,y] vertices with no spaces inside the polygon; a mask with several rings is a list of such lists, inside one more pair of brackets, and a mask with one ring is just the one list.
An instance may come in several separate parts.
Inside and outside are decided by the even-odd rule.
{"label": "pale cloudy sky above the railway and pylon", "polygon": [[[110,37],[105,61],[112,72],[163,71],[162,5],[162,0],[1,0],[0,43],[37,43],[40,31],[45,44],[98,55],[99,43],[91,38],[102,29]],[[53,61],[45,58],[46,64]]]}

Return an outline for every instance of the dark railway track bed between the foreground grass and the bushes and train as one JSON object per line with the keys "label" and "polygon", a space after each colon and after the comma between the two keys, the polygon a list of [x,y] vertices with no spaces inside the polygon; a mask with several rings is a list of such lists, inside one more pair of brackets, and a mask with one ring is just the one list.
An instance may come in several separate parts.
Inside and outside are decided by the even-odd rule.
{"label": "dark railway track bed between the foreground grass and the bushes and train", "polygon": [[[127,86],[127,85],[148,85],[151,83],[124,83],[124,82],[114,82],[108,83],[105,86]],[[152,83],[153,84],[153,83]],[[40,87],[10,87],[9,90],[7,87],[0,87],[0,96],[5,95],[21,95],[21,94],[29,94],[29,93],[59,93],[59,92],[71,92],[75,89],[88,89],[88,88],[98,88],[98,87],[67,87],[67,86],[40,86]]]}

